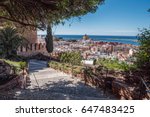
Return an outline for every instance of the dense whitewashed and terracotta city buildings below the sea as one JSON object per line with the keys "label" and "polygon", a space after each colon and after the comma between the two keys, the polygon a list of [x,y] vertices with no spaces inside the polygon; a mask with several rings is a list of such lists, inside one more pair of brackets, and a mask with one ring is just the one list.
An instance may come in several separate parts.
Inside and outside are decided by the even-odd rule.
{"label": "dense whitewashed and terracotta city buildings below the sea", "polygon": [[[38,36],[38,38],[41,43],[45,43],[42,36]],[[80,51],[84,60],[106,58],[131,63],[137,49],[138,46],[131,44],[93,41],[88,35],[84,35],[79,40],[64,40],[54,37],[54,51],[52,55],[56,56],[63,52]]]}

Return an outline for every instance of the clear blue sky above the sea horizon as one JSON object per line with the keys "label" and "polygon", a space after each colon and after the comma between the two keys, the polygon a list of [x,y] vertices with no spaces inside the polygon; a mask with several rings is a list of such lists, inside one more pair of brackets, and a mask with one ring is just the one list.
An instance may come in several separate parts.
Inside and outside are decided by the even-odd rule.
{"label": "clear blue sky above the sea horizon", "polygon": [[96,13],[83,16],[81,21],[72,18],[65,25],[54,26],[53,34],[137,35],[138,28],[150,26],[149,8],[150,0],[105,0]]}

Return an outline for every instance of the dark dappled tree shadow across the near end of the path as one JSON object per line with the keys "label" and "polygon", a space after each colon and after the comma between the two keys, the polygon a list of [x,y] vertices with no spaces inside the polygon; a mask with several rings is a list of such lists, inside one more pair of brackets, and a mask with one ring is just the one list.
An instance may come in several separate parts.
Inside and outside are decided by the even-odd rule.
{"label": "dark dappled tree shadow across the near end of the path", "polygon": [[[109,95],[110,96],[110,95]],[[114,97],[103,95],[103,91],[84,85],[82,82],[74,84],[72,81],[58,81],[45,83],[40,89],[25,89],[18,93],[18,99],[27,100],[107,100]]]}

